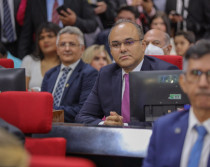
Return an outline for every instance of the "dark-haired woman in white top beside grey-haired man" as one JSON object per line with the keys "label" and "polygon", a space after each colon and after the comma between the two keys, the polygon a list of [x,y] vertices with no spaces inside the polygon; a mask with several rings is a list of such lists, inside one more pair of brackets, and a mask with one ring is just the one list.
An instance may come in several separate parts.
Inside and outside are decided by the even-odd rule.
{"label": "dark-haired woman in white top beside grey-haired man", "polygon": [[22,61],[26,70],[26,89],[40,91],[45,73],[60,64],[56,51],[56,36],[59,26],[47,22],[40,25],[36,33],[35,51]]}

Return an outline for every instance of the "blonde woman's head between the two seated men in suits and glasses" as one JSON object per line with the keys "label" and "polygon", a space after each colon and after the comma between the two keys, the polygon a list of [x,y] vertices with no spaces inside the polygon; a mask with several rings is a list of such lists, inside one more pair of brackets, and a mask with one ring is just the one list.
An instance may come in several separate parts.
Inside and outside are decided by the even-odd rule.
{"label": "blonde woman's head between the two seated men in suits and glasses", "polygon": [[92,45],[88,47],[83,53],[82,60],[98,71],[102,67],[112,63],[104,45]]}

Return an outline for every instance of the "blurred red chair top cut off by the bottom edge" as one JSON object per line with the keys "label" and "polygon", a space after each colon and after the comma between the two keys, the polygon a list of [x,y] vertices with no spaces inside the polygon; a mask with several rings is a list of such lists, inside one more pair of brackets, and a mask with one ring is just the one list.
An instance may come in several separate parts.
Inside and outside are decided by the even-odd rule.
{"label": "blurred red chair top cut off by the bottom edge", "polygon": [[85,158],[32,156],[29,167],[95,167],[95,164]]}

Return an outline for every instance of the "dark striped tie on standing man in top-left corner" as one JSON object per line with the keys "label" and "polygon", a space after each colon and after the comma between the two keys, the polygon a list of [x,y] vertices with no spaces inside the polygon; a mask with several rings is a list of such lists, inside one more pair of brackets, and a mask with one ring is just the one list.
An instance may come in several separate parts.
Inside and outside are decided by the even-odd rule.
{"label": "dark striped tie on standing man in top-left corner", "polygon": [[3,0],[4,9],[4,23],[3,23],[3,36],[8,42],[13,42],[15,40],[14,29],[12,26],[10,8],[8,6],[7,0]]}

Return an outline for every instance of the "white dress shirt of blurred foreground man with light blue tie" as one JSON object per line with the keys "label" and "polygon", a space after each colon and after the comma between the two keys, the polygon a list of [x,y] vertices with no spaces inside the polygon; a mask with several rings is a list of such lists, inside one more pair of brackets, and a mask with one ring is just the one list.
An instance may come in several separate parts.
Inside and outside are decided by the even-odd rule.
{"label": "white dress shirt of blurred foreground man with light blue tie", "polygon": [[190,108],[189,112],[189,124],[182,150],[180,167],[187,166],[191,149],[197,140],[198,133],[194,128],[195,125],[203,125],[207,130],[207,134],[204,138],[203,149],[201,152],[201,160],[199,163],[199,167],[207,167],[210,153],[210,118],[201,124],[196,118],[192,107]]}

